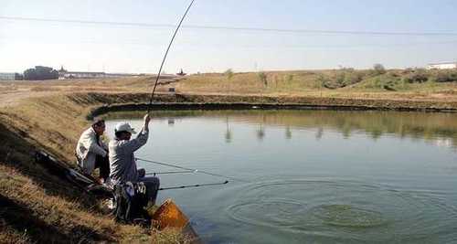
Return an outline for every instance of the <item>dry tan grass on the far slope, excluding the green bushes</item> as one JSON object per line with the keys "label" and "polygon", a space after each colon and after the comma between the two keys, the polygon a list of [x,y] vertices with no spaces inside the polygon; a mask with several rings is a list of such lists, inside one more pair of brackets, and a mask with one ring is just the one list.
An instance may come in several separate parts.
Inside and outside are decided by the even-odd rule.
{"label": "dry tan grass on the far slope, excluding the green bushes", "polygon": [[[224,74],[200,74],[187,77],[177,84],[183,93],[299,96],[316,98],[389,99],[389,100],[452,100],[449,90],[457,91],[456,82],[409,84],[403,90],[389,91],[373,87],[373,78],[362,80],[356,85],[330,90],[322,86],[320,77],[334,77],[338,70],[268,71],[267,84],[260,81],[258,73],[235,73],[228,80]],[[362,70],[360,72],[367,72]],[[391,72],[401,74],[399,70]]]}

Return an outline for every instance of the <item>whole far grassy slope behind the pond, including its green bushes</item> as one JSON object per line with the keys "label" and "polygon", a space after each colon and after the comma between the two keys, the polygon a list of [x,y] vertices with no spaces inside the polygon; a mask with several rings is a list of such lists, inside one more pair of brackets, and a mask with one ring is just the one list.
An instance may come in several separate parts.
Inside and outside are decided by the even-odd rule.
{"label": "whole far grassy slope behind the pond, including its green bushes", "polygon": [[457,100],[457,70],[298,70],[201,74],[183,92],[383,100]]}

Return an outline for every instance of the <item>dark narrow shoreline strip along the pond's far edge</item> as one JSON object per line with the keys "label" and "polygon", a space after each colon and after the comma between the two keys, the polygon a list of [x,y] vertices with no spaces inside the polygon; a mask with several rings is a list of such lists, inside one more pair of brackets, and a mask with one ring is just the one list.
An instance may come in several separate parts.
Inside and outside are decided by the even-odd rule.
{"label": "dark narrow shoreline strip along the pond's far edge", "polygon": [[[99,94],[102,95],[102,94]],[[106,94],[111,96],[113,94]],[[118,94],[122,96],[122,94]],[[176,101],[173,97],[187,98],[188,101]],[[162,101],[167,97],[165,101]],[[219,97],[215,101],[215,97]],[[210,98],[209,102],[205,102]],[[223,101],[230,98],[232,101]],[[252,100],[252,98],[254,98]],[[270,102],[260,102],[266,97],[226,96],[226,95],[159,95],[158,101],[122,102],[103,104],[93,108],[86,119],[101,116],[112,111],[214,111],[214,110],[325,110],[325,111],[418,111],[418,112],[457,112],[457,102],[442,101],[398,101],[398,100],[363,100],[363,99],[329,99],[298,97],[293,100],[303,102],[287,102],[290,98],[268,97]],[[245,100],[249,99],[250,102]],[[312,102],[306,101],[313,100]],[[316,101],[317,99],[317,101]],[[258,100],[258,101],[257,101]],[[330,100],[330,101],[329,101]],[[333,101],[333,104],[332,104]],[[359,104],[362,103],[362,104]],[[371,103],[371,104],[370,104]],[[454,104],[456,103],[456,104]],[[365,104],[365,105],[364,105]]]}

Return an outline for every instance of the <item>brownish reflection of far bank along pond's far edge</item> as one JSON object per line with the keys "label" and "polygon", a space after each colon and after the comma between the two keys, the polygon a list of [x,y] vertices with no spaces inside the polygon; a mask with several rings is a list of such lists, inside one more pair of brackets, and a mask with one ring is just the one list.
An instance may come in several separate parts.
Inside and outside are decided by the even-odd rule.
{"label": "brownish reflection of far bank along pond's far edge", "polygon": [[[134,118],[139,112],[114,112],[111,119]],[[234,140],[234,128],[230,123],[255,124],[253,132],[261,142],[270,126],[283,127],[286,139],[292,139],[294,130],[316,130],[315,139],[324,137],[325,130],[332,130],[349,139],[357,133],[365,133],[374,141],[382,136],[395,135],[399,138],[426,140],[430,143],[457,147],[457,114],[399,111],[154,111],[156,120],[164,119],[169,126],[175,118],[199,117],[225,118],[226,130],[223,140]]]}

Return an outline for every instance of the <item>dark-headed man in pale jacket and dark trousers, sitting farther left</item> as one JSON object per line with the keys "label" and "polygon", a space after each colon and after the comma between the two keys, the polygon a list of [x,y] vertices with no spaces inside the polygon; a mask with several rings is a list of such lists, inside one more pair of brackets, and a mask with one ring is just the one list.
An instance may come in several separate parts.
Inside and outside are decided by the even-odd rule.
{"label": "dark-headed man in pale jacket and dark trousers, sitting farther left", "polygon": [[110,176],[108,146],[102,142],[105,122],[96,118],[89,129],[84,131],[76,146],[76,156],[82,171],[90,175],[94,169],[100,169],[100,182],[104,183]]}

